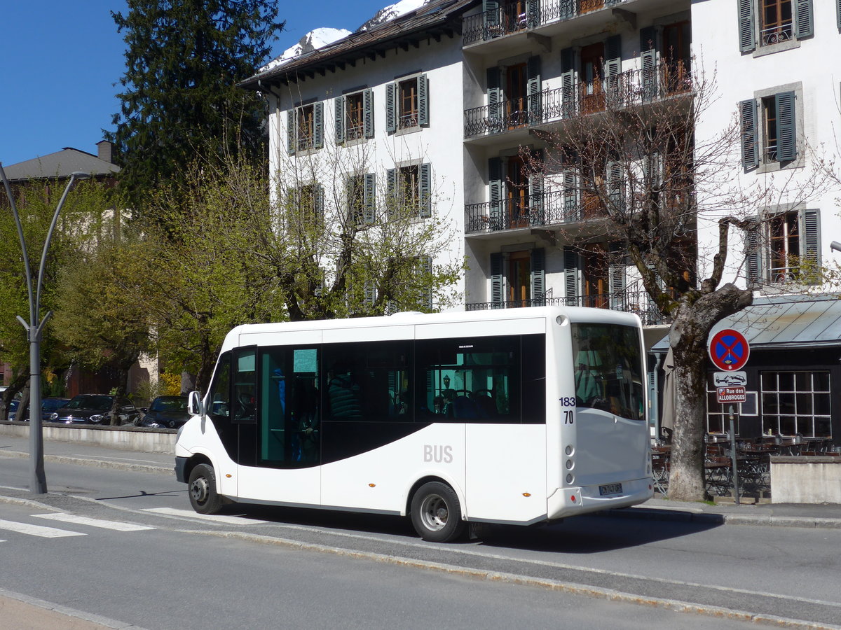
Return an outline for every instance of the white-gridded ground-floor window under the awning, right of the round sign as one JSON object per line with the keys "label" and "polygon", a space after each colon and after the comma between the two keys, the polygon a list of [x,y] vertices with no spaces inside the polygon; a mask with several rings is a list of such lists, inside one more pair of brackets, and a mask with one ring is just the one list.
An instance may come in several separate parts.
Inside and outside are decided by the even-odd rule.
{"label": "white-gridded ground-floor window under the awning, right of the round sign", "polygon": [[760,372],[762,432],[832,438],[829,372]]}

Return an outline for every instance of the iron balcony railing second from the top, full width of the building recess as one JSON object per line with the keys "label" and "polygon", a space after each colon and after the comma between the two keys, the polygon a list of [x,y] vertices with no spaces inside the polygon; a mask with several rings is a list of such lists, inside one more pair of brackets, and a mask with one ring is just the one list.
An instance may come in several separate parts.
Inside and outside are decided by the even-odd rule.
{"label": "iron balcony railing second from the top, full width of the building recess", "polygon": [[525,97],[465,109],[464,137],[502,134],[579,114],[628,108],[691,90],[692,76],[684,61],[637,68],[600,81],[570,81]]}

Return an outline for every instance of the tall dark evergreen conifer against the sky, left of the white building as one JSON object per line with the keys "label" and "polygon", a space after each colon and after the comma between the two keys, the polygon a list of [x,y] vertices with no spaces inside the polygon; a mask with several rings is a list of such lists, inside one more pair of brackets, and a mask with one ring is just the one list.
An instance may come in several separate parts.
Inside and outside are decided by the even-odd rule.
{"label": "tall dark evergreen conifer against the sky, left of the white building", "polygon": [[125,33],[117,130],[120,179],[140,209],[144,191],[177,181],[193,156],[264,153],[264,102],[235,87],[270,52],[278,0],[129,0],[111,13]]}

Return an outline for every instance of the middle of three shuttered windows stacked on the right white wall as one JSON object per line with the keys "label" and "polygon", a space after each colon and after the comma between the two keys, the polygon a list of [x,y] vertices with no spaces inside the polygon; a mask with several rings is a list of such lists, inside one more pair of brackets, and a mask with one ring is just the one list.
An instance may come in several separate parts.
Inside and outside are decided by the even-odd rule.
{"label": "middle of three shuttered windows stacked on the right white wall", "polygon": [[796,92],[779,92],[739,103],[745,171],[796,160],[796,98]]}

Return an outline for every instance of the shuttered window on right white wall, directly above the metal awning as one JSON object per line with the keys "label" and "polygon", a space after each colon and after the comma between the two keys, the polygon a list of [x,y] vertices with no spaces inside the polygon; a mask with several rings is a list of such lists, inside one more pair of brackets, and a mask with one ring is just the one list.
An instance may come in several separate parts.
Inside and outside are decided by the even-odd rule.
{"label": "shuttered window on right white wall, directly above the metal awning", "polygon": [[816,284],[820,270],[817,210],[778,213],[748,230],[748,285],[797,281]]}

